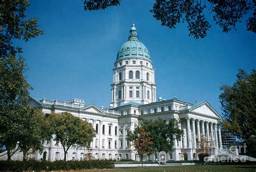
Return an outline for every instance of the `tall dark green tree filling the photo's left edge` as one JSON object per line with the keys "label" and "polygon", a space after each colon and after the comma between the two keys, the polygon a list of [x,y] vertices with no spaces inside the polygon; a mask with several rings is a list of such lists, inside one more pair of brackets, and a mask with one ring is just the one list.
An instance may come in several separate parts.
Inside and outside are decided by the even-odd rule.
{"label": "tall dark green tree filling the photo's left edge", "polygon": [[0,2],[0,142],[6,147],[8,160],[16,151],[12,150],[17,146],[17,117],[28,103],[28,90],[32,89],[24,76],[22,48],[15,47],[12,40],[28,41],[43,34],[37,19],[25,19],[29,4],[26,0]]}

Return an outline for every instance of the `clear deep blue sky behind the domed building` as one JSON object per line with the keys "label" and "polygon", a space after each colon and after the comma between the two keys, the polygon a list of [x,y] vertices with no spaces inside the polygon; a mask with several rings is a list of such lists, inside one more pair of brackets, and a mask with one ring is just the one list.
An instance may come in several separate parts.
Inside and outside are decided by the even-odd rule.
{"label": "clear deep blue sky behind the domed building", "polygon": [[207,101],[221,113],[220,85],[232,84],[238,69],[256,64],[255,34],[243,19],[237,31],[223,33],[212,23],[204,39],[188,37],[187,25],[160,25],[149,10],[154,1],[121,1],[104,11],[84,11],[83,1],[31,1],[27,14],[45,34],[23,47],[31,96],[109,106],[113,63],[135,24],[156,69],[157,97]]}

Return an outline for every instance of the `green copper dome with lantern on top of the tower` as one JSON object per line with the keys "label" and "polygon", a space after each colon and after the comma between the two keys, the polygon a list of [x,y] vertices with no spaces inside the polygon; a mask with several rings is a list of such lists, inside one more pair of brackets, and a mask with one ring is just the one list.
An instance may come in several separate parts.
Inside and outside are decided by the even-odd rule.
{"label": "green copper dome with lantern on top of the tower", "polygon": [[128,41],[122,45],[117,53],[117,60],[127,58],[142,58],[150,60],[150,53],[147,50],[147,47],[139,41],[134,24],[132,24]]}

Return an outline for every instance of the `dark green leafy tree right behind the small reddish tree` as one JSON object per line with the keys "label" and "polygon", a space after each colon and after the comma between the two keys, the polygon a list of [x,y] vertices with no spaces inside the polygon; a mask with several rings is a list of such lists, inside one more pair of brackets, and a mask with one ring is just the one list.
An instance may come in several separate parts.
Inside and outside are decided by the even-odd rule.
{"label": "dark green leafy tree right behind the small reddish tree", "polygon": [[140,118],[140,120],[142,120],[140,127],[151,134],[153,146],[158,152],[172,152],[174,140],[180,140],[183,135],[183,130],[180,130],[177,119],[147,120]]}

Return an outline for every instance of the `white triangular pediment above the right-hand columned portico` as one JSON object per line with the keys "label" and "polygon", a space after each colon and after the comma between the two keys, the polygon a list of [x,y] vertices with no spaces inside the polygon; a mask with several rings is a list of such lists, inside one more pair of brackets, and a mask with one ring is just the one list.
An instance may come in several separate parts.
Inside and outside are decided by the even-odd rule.
{"label": "white triangular pediment above the right-hand columned portico", "polygon": [[196,107],[193,107],[190,112],[196,112],[201,114],[206,114],[207,116],[221,118],[219,114],[209,105],[207,102],[200,104]]}

